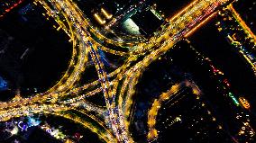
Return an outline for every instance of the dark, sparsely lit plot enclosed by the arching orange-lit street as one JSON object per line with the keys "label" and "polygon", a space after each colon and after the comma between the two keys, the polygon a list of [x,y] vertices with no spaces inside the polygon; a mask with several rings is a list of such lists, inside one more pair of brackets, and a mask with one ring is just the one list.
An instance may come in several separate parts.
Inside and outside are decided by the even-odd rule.
{"label": "dark, sparsely lit plot enclosed by the arching orange-lit street", "polygon": [[[177,97],[176,103],[167,102],[160,108],[156,129],[160,142],[232,142],[231,137],[213,116],[211,109],[189,88]],[[166,112],[168,111],[168,112]],[[177,120],[178,119],[178,120]]]}

